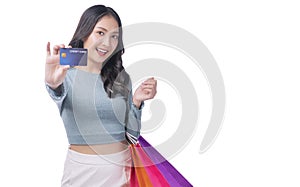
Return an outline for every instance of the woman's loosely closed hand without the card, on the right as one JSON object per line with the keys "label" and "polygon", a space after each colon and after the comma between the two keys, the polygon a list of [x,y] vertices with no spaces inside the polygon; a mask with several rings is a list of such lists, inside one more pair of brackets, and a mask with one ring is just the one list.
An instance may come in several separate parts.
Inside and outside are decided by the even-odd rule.
{"label": "woman's loosely closed hand without the card, on the right", "polygon": [[152,99],[156,95],[157,81],[154,77],[145,80],[134,92],[132,101],[137,108],[145,100]]}

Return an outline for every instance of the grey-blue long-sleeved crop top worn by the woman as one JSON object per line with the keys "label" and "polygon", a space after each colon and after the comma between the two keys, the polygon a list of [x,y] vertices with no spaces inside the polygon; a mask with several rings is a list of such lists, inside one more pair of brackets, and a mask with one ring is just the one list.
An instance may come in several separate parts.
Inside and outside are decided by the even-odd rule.
{"label": "grey-blue long-sleeved crop top worn by the woman", "polygon": [[[130,94],[109,98],[98,74],[70,68],[58,89],[46,89],[58,106],[69,144],[107,144],[125,140],[127,132],[138,138],[141,109]],[[143,105],[143,104],[142,104]],[[141,107],[142,108],[142,107]]]}

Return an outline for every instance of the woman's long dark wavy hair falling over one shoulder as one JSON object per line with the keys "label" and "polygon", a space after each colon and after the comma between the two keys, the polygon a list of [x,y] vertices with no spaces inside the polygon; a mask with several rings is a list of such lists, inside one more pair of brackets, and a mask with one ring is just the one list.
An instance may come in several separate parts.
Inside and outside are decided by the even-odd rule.
{"label": "woman's long dark wavy hair falling over one shoulder", "polygon": [[73,48],[83,48],[84,41],[92,33],[97,22],[103,16],[107,15],[112,16],[118,22],[119,41],[118,46],[112,55],[103,62],[100,75],[103,80],[104,90],[108,97],[112,98],[118,94],[127,96],[129,91],[127,85],[129,84],[130,78],[126,73],[122,62],[122,55],[125,50],[123,46],[122,23],[117,12],[104,5],[94,5],[86,9],[79,20],[78,26],[69,45]]}

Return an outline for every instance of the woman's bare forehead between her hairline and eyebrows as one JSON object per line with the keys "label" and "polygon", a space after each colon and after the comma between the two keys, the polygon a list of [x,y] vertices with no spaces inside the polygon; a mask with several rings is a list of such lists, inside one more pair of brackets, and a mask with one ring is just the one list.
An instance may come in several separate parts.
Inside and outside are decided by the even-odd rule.
{"label": "woman's bare forehead between her hairline and eyebrows", "polygon": [[119,25],[114,17],[107,15],[99,19],[94,29],[105,29],[108,32],[112,32],[112,31],[118,31]]}

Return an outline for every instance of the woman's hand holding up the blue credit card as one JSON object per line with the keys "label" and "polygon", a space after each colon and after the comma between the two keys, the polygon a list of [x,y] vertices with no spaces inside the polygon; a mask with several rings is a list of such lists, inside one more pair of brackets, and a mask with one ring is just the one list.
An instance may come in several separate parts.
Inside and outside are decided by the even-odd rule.
{"label": "woman's hand holding up the blue credit card", "polygon": [[47,43],[47,58],[45,65],[45,82],[52,89],[56,89],[61,85],[66,77],[69,65],[60,65],[59,63],[59,50],[64,48],[65,45],[55,45],[53,53],[51,54],[50,42]]}

